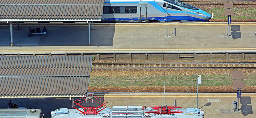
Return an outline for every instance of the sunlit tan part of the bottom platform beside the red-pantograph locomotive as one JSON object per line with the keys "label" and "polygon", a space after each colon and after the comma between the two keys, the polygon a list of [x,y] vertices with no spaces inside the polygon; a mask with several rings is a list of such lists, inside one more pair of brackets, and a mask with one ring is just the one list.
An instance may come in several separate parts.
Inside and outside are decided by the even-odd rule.
{"label": "sunlit tan part of the bottom platform beside the red-pantograph locomotive", "polygon": [[[255,95],[242,93],[239,101],[239,111],[233,110],[232,102],[236,101],[236,93],[224,94],[200,94],[198,96],[198,108],[204,111],[204,118],[254,118],[256,112]],[[164,94],[129,94],[129,95],[105,95],[108,107],[112,106],[160,106],[164,105]],[[196,108],[196,94],[166,94],[166,105],[183,108]]]}

